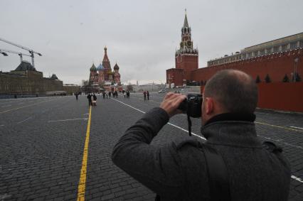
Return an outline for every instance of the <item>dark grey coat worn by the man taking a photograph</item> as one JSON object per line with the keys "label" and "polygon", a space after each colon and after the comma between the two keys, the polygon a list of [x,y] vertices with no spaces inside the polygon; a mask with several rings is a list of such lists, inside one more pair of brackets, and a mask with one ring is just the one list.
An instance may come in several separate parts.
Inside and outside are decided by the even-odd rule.
{"label": "dark grey coat worn by the man taking a photograph", "polygon": [[[112,161],[161,200],[210,200],[203,143],[184,136],[163,147],[149,145],[168,121],[163,109],[151,109],[119,139]],[[216,121],[201,132],[223,156],[231,200],[287,200],[289,163],[262,148],[253,122]]]}

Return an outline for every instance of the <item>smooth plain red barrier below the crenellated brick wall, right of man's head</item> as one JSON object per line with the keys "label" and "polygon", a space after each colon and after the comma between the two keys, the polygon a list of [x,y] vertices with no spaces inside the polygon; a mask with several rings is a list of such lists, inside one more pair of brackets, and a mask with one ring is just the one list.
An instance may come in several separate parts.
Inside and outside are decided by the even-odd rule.
{"label": "smooth plain red barrier below the crenellated brick wall, right of man's head", "polygon": [[[204,86],[201,86],[201,94]],[[303,82],[260,83],[257,107],[303,112]]]}

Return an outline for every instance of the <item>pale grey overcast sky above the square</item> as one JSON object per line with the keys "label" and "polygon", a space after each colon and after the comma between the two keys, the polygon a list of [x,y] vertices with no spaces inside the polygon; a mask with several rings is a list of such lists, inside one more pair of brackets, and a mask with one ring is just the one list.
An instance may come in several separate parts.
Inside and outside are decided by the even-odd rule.
{"label": "pale grey overcast sky above the square", "polygon": [[[303,31],[302,0],[260,1],[6,1],[0,0],[0,38],[32,48],[44,77],[64,84],[87,80],[105,45],[122,82],[165,82],[175,67],[184,9],[199,50],[199,67],[245,47]],[[26,51],[0,41],[0,49]],[[26,60],[31,58],[24,57]],[[0,70],[14,70],[18,55],[0,55]]]}

